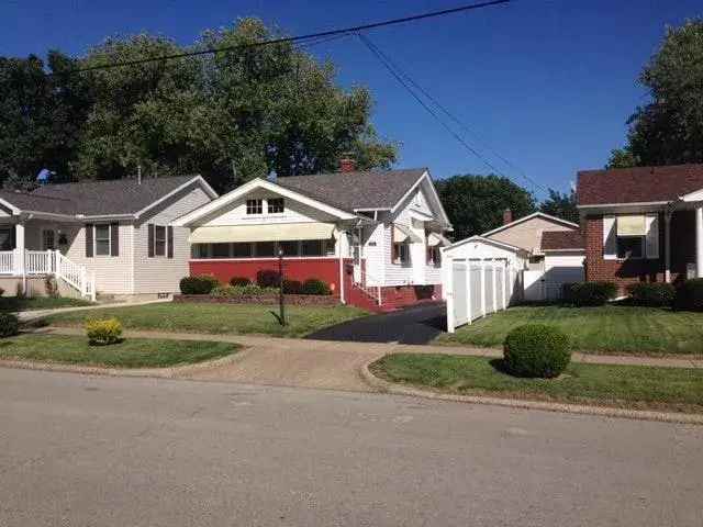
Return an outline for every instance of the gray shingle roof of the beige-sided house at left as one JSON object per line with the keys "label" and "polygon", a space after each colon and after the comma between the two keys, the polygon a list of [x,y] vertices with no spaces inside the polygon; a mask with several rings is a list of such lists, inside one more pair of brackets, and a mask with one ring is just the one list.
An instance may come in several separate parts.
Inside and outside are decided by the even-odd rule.
{"label": "gray shingle roof of the beige-sided house at left", "polygon": [[141,184],[136,179],[45,184],[29,193],[0,191],[0,199],[23,211],[86,216],[134,214],[193,178],[150,178]]}

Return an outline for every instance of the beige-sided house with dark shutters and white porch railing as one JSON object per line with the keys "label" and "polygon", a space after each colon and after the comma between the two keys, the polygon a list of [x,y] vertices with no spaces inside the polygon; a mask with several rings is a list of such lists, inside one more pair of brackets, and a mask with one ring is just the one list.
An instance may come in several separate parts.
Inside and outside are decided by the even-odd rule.
{"label": "beige-sided house with dark shutters and white porch railing", "polygon": [[157,296],[188,274],[188,229],[169,226],[216,193],[200,176],[0,191],[0,285],[43,294]]}

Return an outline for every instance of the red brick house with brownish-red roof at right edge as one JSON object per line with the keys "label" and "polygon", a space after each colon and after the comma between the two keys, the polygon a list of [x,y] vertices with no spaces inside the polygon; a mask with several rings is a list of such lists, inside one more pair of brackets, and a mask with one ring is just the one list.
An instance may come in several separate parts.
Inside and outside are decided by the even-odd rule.
{"label": "red brick house with brownish-red roof at right edge", "polygon": [[636,282],[703,277],[703,165],[579,172],[585,276]]}

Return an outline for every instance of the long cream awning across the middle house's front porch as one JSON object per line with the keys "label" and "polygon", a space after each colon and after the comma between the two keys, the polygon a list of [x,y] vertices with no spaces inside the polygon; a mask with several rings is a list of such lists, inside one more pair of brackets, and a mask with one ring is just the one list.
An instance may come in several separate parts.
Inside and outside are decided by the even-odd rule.
{"label": "long cream awning across the middle house's front porch", "polygon": [[333,237],[333,223],[227,225],[193,228],[188,242],[191,244],[294,242],[299,239],[330,239]]}

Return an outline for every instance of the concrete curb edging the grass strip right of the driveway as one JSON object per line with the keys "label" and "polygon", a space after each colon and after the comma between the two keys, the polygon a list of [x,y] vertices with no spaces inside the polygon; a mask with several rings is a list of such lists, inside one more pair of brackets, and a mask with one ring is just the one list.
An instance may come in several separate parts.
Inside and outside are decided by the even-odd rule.
{"label": "concrete curb edging the grass strip right of the driveway", "polygon": [[526,401],[520,399],[489,397],[483,395],[453,395],[448,393],[432,392],[419,388],[405,386],[389,382],[376,377],[369,370],[369,366],[379,359],[371,359],[361,366],[360,374],[371,388],[379,392],[412,397],[434,399],[438,401],[453,401],[458,403],[489,404],[510,408],[542,410],[545,412],[562,412],[567,414],[596,415],[601,417],[617,417],[636,421],[656,421],[659,423],[677,423],[687,425],[703,425],[703,415],[678,414],[671,412],[652,412],[644,410],[625,410],[607,406],[589,406],[583,404],[548,403],[545,401]]}

